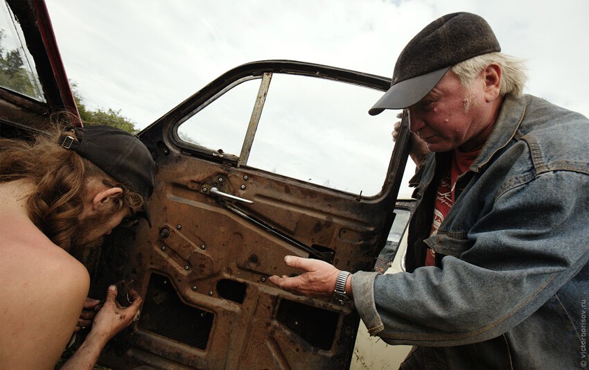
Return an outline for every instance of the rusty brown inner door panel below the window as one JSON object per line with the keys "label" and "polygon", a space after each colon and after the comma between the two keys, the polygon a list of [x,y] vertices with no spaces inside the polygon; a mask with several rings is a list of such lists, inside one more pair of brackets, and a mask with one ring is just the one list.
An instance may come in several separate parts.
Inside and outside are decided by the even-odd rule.
{"label": "rusty brown inner door panel below the window", "polygon": [[[334,265],[352,272],[373,263],[376,229],[371,224],[378,222],[367,215],[379,214],[380,205],[173,153],[158,165],[152,229],[140,224],[118,230],[112,238],[116,242],[103,251],[103,267],[111,276],[96,276],[96,285],[133,280],[146,297],[143,315],[130,329],[133,335],[109,351],[146,351],[170,367],[342,369],[358,325],[351,306],[274,287],[268,276],[297,273],[283,264],[285,254],[308,254],[201,189],[216,185],[254,200],[249,211],[306,245],[333,248]],[[105,359],[112,361],[108,355]],[[105,364],[121,366],[118,360]]]}

